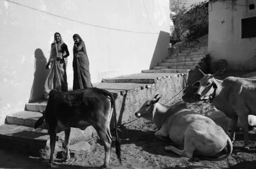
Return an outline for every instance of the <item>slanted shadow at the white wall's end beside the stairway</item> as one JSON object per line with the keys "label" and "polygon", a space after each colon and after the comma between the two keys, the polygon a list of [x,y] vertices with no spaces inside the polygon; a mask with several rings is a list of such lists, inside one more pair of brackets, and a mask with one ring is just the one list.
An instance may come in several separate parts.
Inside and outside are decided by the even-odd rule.
{"label": "slanted shadow at the white wall's end beside the stairway", "polygon": [[162,62],[162,59],[166,59],[168,46],[170,46],[170,33],[160,31],[149,69],[152,69],[152,66],[157,66],[157,63]]}

